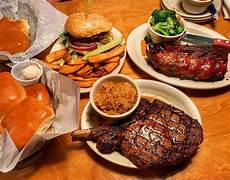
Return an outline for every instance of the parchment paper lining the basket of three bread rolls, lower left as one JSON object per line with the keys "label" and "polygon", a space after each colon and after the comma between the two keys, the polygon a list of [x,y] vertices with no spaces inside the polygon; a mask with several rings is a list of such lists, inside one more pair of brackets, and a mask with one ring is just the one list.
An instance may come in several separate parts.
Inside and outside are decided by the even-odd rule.
{"label": "parchment paper lining the basket of three bread rolls, lower left", "polygon": [[21,151],[16,148],[4,129],[0,135],[1,172],[11,171],[19,161],[41,149],[48,140],[77,129],[80,87],[71,79],[45,66],[41,81],[52,94],[55,118],[51,128],[44,134],[35,134]]}

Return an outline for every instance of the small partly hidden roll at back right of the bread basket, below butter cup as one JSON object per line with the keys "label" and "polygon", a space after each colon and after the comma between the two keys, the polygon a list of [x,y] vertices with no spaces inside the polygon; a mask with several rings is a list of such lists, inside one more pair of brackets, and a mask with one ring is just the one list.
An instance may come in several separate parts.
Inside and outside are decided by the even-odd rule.
{"label": "small partly hidden roll at back right of the bread basket, below butter cup", "polygon": [[25,87],[26,95],[42,101],[45,105],[50,105],[50,95],[46,85],[42,83],[33,84]]}

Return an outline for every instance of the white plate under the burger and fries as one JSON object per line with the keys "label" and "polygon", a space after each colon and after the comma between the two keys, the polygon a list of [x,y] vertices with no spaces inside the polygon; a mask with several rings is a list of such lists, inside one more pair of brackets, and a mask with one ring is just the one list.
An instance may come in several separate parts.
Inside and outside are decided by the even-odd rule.
{"label": "white plate under the burger and fries", "polygon": [[[111,32],[112,32],[114,38],[119,38],[122,36],[121,32],[114,27],[112,28]],[[125,43],[125,40],[123,38],[122,44],[124,44],[124,43]],[[65,48],[65,46],[59,40],[57,40],[56,43],[53,45],[50,52],[54,52],[54,51],[57,51],[57,50],[63,49],[63,48]],[[117,74],[120,72],[120,70],[121,70],[121,68],[125,62],[125,57],[126,57],[126,49],[125,49],[124,55],[120,58],[119,66],[116,67],[110,74]],[[88,92],[90,92],[90,89],[91,88],[81,88],[80,92],[81,93],[88,93]]]}

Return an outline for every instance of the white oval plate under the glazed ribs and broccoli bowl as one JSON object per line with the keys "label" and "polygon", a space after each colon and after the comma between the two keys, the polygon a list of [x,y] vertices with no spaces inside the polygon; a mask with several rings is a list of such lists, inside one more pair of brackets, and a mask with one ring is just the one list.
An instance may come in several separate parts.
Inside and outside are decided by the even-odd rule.
{"label": "white oval plate under the glazed ribs and broccoli bowl", "polygon": [[[189,33],[208,36],[212,38],[226,39],[221,34],[213,30],[210,30],[206,27],[191,22],[186,22],[186,24],[187,24],[187,32]],[[147,34],[148,31],[147,28],[148,28],[147,24],[143,24],[135,28],[129,34],[129,37],[127,39],[127,45],[126,45],[130,58],[144,72],[168,84],[172,84],[174,86],[179,86],[184,88],[190,88],[190,89],[217,89],[217,88],[230,85],[230,56],[228,56],[227,72],[225,74],[224,79],[221,81],[202,82],[202,81],[192,81],[192,80],[181,80],[179,78],[169,77],[155,71],[150,65],[146,63],[145,58],[141,54],[140,43],[141,40],[144,39],[145,35]]]}

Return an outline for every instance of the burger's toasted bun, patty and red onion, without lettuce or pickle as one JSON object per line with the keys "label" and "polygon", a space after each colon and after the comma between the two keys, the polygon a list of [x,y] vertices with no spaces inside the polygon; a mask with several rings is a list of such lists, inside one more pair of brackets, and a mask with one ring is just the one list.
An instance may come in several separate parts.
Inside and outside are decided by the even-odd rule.
{"label": "burger's toasted bun, patty and red onion, without lettuce or pickle", "polygon": [[76,50],[91,51],[97,43],[106,44],[112,40],[112,23],[99,14],[72,14],[65,23],[69,33],[69,45]]}

